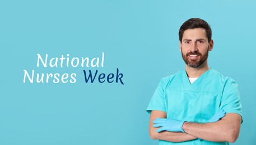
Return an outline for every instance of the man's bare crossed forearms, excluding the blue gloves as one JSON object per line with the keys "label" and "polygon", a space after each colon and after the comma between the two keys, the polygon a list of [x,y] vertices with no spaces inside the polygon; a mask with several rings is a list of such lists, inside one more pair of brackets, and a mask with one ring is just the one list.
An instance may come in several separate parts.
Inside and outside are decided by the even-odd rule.
{"label": "man's bare crossed forearms, excluding the blue gloves", "polygon": [[166,118],[166,113],[152,110],[150,115],[150,137],[169,142],[184,142],[201,138],[212,142],[235,142],[239,136],[241,116],[236,113],[228,113],[221,120],[214,123],[190,123],[185,122],[182,126],[183,132],[156,132],[153,120]]}

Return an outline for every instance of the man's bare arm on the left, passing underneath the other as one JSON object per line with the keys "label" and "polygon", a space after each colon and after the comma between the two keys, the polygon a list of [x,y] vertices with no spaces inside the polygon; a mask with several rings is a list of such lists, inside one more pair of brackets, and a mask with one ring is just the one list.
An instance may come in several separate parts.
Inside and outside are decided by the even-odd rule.
{"label": "man's bare arm on the left, passing underneath the other", "polygon": [[156,118],[166,118],[166,113],[162,111],[152,110],[150,115],[150,137],[152,139],[160,139],[164,141],[169,142],[184,142],[184,141],[190,141],[192,139],[196,139],[197,137],[194,137],[188,133],[183,132],[156,132],[158,128],[153,127],[153,120]]}

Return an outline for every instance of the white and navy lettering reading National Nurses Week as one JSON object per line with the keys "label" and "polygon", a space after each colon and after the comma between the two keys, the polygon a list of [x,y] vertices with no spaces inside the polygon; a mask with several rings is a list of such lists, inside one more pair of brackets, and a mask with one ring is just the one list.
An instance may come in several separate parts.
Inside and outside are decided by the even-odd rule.
{"label": "white and navy lettering reading National Nurses Week", "polygon": [[[104,52],[102,52],[101,58],[100,57],[94,57],[92,59],[89,59],[89,57],[73,57],[72,59],[69,58],[69,54],[67,54],[66,57],[61,55],[61,57],[53,57],[51,59],[48,59],[48,54],[45,54],[45,57],[43,58],[40,54],[38,55],[38,61],[36,66],[37,67],[55,67],[62,69],[63,67],[104,67]],[[49,61],[48,61],[49,60]],[[89,73],[88,73],[89,72]],[[123,74],[119,73],[119,69],[117,68],[116,73],[110,73],[110,74],[104,74],[99,73],[98,70],[95,70],[94,73],[92,70],[89,71],[83,70],[83,76],[85,77],[85,83],[94,83],[96,80],[99,81],[99,83],[123,83]],[[76,73],[36,73],[33,69],[31,71],[31,74],[27,72],[27,70],[24,70],[24,79],[23,83],[30,82],[30,83],[76,83],[77,74]]]}

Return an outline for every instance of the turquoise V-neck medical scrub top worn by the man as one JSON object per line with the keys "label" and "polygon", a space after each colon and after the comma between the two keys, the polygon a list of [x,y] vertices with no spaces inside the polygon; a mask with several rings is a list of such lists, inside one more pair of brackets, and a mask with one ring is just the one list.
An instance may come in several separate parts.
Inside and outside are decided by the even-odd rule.
{"label": "turquoise V-neck medical scrub top worn by the man", "polygon": [[[229,77],[209,69],[193,84],[190,84],[185,70],[162,78],[153,94],[147,112],[161,110],[167,118],[187,122],[207,123],[219,110],[241,114],[238,85]],[[194,139],[186,142],[159,141],[167,144],[229,144]]]}

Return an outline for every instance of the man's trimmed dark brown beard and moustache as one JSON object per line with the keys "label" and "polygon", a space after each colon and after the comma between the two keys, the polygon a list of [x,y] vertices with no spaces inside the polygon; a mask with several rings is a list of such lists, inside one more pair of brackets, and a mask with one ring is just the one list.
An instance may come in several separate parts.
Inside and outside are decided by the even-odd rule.
{"label": "man's trimmed dark brown beard and moustache", "polygon": [[[201,66],[208,58],[208,51],[206,52],[205,55],[202,56],[202,54],[198,51],[195,51],[195,52],[188,52],[188,54],[183,54],[182,52],[182,48],[181,48],[181,55],[182,55],[182,58],[183,60],[185,61],[185,63],[190,66],[190,67],[198,67],[198,66]],[[190,60],[188,58],[189,55],[199,55],[200,56],[200,59],[199,60]]]}

